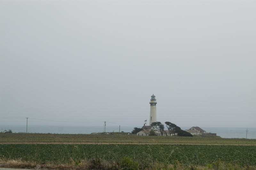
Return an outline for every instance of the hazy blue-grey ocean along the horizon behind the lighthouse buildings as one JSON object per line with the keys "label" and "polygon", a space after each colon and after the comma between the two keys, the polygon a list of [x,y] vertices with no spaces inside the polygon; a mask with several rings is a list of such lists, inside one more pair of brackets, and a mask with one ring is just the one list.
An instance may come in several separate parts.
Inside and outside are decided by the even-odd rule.
{"label": "hazy blue-grey ocean along the horizon behind the lighthouse buildings", "polygon": [[[131,132],[134,127],[120,126],[120,132]],[[181,127],[182,130],[191,127]],[[246,138],[246,129],[248,139],[256,139],[256,128],[245,127],[200,127],[206,132],[217,133],[221,138]],[[11,129],[13,133],[26,132],[26,125],[0,125],[0,130]],[[30,125],[28,133],[58,133],[58,134],[90,134],[93,132],[103,132],[104,126],[61,126],[61,125]],[[119,132],[119,125],[106,126],[106,132]]]}

